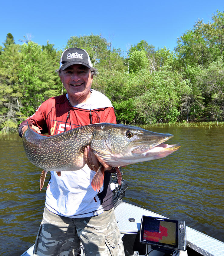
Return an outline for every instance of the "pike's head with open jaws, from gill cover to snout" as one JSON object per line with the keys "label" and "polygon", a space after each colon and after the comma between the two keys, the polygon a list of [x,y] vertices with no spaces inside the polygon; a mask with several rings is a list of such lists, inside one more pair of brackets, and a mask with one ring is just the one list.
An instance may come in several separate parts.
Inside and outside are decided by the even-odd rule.
{"label": "pike's head with open jaws, from gill cover to snout", "polygon": [[123,166],[163,158],[180,148],[180,144],[163,142],[172,138],[130,125],[102,125],[94,132],[91,148],[111,166]]}

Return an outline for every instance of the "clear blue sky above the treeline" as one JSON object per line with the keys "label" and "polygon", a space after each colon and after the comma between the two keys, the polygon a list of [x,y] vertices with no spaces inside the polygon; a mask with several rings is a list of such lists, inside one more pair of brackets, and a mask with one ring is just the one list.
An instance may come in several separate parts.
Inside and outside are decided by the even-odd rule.
{"label": "clear blue sky above the treeline", "polygon": [[195,22],[212,21],[223,0],[188,1],[2,1],[0,45],[10,32],[15,43],[31,35],[39,45],[64,49],[71,36],[101,34],[112,47],[126,51],[141,40],[173,50]]}

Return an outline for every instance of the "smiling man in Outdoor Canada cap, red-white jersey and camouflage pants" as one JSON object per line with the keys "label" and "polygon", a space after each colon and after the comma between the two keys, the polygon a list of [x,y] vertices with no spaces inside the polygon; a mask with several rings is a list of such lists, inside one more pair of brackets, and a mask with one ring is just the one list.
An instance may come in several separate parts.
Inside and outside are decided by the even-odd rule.
{"label": "smiling man in Outdoor Canada cap, red-white jersey and camouflage pants", "polygon": [[[116,123],[110,100],[91,89],[95,73],[85,50],[66,49],[61,55],[59,76],[67,94],[44,101],[27,119],[32,128],[53,135],[91,123]],[[27,121],[23,121],[19,135],[26,129]],[[105,172],[100,191],[94,191],[91,181],[100,162],[89,147],[84,158],[87,165],[81,170],[63,171],[61,176],[51,172],[33,255],[77,255],[80,240],[86,255],[124,255],[114,216],[110,172]],[[111,170],[102,164],[105,170]]]}

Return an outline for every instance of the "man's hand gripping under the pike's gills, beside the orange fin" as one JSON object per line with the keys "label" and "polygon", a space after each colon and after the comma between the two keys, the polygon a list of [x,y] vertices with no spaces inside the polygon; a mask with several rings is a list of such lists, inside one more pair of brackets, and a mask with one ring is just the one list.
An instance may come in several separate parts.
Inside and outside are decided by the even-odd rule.
{"label": "man's hand gripping under the pike's gills, beside the orange fin", "polygon": [[104,171],[111,170],[112,166],[107,165],[104,160],[100,156],[95,156],[90,146],[87,146],[84,149],[84,159],[89,166],[89,168],[93,171],[97,171],[100,167],[100,164],[104,168]]}

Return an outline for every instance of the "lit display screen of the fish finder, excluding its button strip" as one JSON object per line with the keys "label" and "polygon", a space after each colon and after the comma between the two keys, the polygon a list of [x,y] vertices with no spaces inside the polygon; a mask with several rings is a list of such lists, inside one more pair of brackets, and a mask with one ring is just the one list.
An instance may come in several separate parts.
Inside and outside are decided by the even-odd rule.
{"label": "lit display screen of the fish finder, excluding its button strip", "polygon": [[176,248],[178,246],[177,232],[176,221],[145,217],[141,223],[140,242]]}

